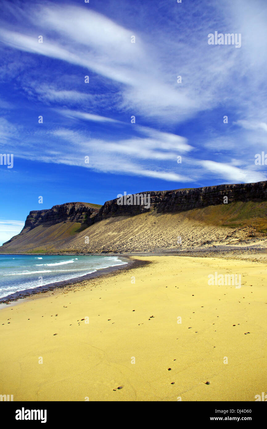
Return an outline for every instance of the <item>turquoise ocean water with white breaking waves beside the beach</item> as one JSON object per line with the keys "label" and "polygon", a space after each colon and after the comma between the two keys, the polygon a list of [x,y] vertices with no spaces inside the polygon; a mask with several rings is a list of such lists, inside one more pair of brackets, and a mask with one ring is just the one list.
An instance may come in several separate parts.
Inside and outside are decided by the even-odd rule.
{"label": "turquoise ocean water with white breaking waves beside the beach", "polygon": [[117,256],[0,255],[0,298],[126,263]]}

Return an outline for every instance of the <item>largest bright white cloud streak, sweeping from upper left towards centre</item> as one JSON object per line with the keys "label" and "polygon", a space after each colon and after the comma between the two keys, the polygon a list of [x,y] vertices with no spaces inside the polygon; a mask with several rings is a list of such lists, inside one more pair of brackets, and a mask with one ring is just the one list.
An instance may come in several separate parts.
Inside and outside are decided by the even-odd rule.
{"label": "largest bright white cloud streak, sweeping from upper left towards centre", "polygon": [[[136,43],[131,43],[133,30],[92,10],[77,6],[62,8],[48,3],[48,6],[34,7],[29,16],[33,24],[39,23],[43,43],[38,43],[36,32],[34,36],[30,35],[26,28],[24,32],[28,34],[0,30],[2,41],[23,51],[80,65],[123,84],[124,88],[120,90],[122,109],[138,109],[148,117],[177,122],[189,114],[210,108],[216,87],[210,82],[207,70],[204,72],[203,60],[213,64],[214,52],[212,54],[206,46],[204,48],[203,40],[194,39],[193,48],[191,43],[180,45],[179,49],[177,46],[177,55],[174,55],[176,43],[174,35],[170,34],[166,43],[172,46],[166,67],[160,58],[161,53],[156,53],[147,42],[143,42],[141,34],[136,34]],[[49,36],[52,33],[57,33],[56,39]],[[190,63],[184,61],[188,49],[194,50]],[[213,75],[224,82],[225,76],[219,73],[219,64],[222,65],[226,58],[221,58],[218,53],[215,56],[217,69],[213,67]],[[197,67],[201,82],[192,79]],[[183,75],[185,84],[177,84],[177,74]]]}

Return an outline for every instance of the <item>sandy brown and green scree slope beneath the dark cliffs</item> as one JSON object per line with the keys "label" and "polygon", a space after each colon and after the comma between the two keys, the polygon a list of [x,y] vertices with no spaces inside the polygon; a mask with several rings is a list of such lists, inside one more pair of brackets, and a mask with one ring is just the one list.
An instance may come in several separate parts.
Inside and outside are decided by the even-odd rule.
{"label": "sandy brown and green scree slope beneath the dark cliffs", "polygon": [[[249,228],[249,231],[241,233],[240,237],[245,238],[246,234],[247,237],[262,237],[267,234],[267,201],[238,201],[180,213],[157,213],[152,208],[140,215],[107,218],[90,227],[78,222],[60,222],[54,225],[43,223],[18,235],[12,242],[0,248],[0,253],[87,253],[106,249],[115,251],[117,248],[120,251],[143,251],[150,249],[152,245],[154,248],[173,248],[177,245],[177,236],[180,235],[183,235],[184,245],[201,245],[205,239],[224,242],[229,233],[231,239],[238,239],[238,232],[232,237],[232,229],[242,230],[250,226],[252,235]],[[144,231],[147,233],[144,234]],[[139,233],[141,237],[138,236]],[[85,235],[90,236],[90,245],[85,244]]]}

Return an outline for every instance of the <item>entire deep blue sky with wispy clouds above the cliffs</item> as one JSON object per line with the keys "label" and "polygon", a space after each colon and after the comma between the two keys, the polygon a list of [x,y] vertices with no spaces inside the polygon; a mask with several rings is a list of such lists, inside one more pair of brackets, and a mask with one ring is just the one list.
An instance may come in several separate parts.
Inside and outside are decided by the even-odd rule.
{"label": "entire deep blue sky with wispy clouds above the cliffs", "polygon": [[[30,210],[267,179],[255,165],[267,152],[266,1],[3,1],[1,11],[0,152],[14,166],[0,165],[0,244]],[[209,45],[215,31],[240,33],[241,47]]]}

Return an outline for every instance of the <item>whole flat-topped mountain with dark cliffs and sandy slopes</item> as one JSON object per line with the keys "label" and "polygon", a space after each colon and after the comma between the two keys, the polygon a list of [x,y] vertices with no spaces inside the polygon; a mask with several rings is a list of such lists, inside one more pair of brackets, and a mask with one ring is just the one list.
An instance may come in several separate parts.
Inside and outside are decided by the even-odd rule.
{"label": "whole flat-topped mountain with dark cliffs and sandy slopes", "polygon": [[122,205],[116,198],[102,206],[69,202],[30,211],[21,233],[0,253],[165,251],[266,237],[267,181],[139,195],[144,205],[134,205],[135,194]]}

